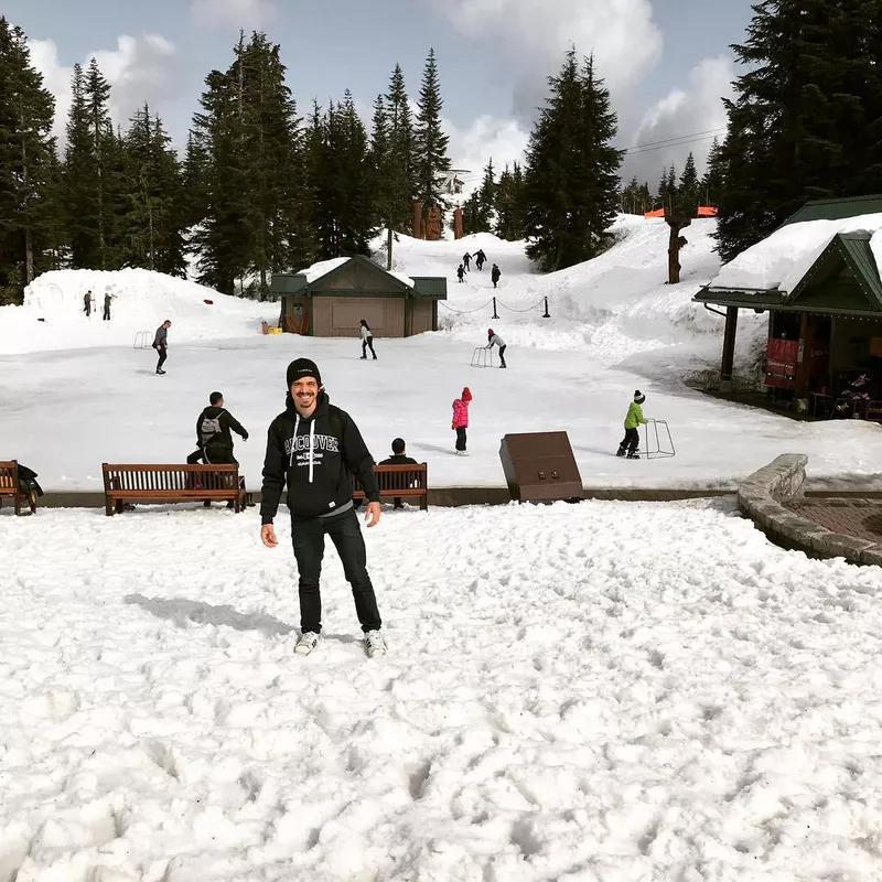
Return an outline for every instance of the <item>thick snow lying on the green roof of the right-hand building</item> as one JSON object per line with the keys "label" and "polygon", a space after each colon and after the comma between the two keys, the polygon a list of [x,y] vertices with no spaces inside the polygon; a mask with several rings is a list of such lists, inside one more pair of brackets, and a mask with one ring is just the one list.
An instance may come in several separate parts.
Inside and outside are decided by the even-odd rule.
{"label": "thick snow lying on the green roof of the right-hand building", "polygon": [[[710,287],[792,291],[838,233],[868,233],[880,270],[882,214],[864,214],[840,220],[804,220],[776,229],[763,241],[742,251],[714,276]],[[873,244],[875,240],[875,244]]]}

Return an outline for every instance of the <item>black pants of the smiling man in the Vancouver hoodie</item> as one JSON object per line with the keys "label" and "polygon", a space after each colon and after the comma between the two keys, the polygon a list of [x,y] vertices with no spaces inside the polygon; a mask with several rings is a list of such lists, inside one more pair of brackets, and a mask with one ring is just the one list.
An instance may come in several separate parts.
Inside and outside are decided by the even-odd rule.
{"label": "black pants of the smiling man in the Vancouver hoodie", "polygon": [[300,574],[300,630],[316,634],[322,630],[322,573],[324,537],[330,536],[343,563],[346,581],[352,585],[355,612],[362,631],[378,631],[383,625],[377,610],[374,585],[367,574],[367,551],[355,512],[349,509],[334,517],[291,518],[291,544]]}

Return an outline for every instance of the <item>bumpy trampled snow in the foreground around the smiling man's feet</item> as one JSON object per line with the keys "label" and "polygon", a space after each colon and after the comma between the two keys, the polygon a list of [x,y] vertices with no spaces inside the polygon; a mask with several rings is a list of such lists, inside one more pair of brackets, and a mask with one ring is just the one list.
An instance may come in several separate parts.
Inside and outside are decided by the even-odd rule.
{"label": "bumpy trampled snow in the foreground around the smiling man's feet", "polygon": [[[728,501],[0,517],[0,880],[875,880],[882,577]],[[47,537],[49,540],[47,540]],[[11,567],[11,569],[9,569]]]}

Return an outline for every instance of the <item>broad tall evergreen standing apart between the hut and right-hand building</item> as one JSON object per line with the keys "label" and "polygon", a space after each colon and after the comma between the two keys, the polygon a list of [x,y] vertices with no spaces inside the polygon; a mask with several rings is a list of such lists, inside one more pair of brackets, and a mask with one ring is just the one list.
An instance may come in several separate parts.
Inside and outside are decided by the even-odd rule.
{"label": "broad tall evergreen standing apart between the hut and right-hand building", "polygon": [[549,78],[550,97],[530,135],[524,183],[527,256],[558,270],[599,255],[619,206],[622,151],[616,117],[592,58],[570,50]]}

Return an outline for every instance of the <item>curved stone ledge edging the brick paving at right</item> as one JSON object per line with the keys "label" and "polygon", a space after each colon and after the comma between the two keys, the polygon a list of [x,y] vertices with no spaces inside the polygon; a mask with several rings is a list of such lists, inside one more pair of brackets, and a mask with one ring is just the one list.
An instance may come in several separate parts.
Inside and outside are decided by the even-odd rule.
{"label": "curved stone ledge edging the brick paving at right", "polygon": [[739,509],[785,548],[816,558],[882,566],[882,546],[833,533],[785,507],[805,495],[807,462],[803,453],[786,453],[754,472],[738,490]]}

